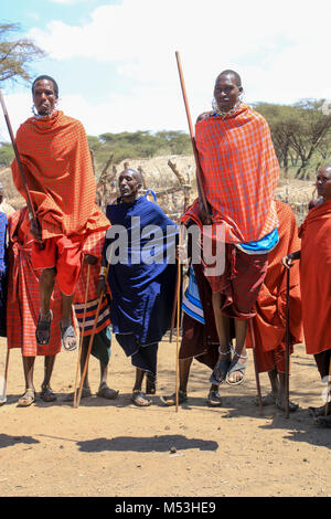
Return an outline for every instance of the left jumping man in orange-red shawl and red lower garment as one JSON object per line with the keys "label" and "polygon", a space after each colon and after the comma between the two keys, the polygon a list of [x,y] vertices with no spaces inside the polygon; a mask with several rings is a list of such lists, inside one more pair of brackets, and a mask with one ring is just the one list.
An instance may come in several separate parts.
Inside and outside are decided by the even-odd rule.
{"label": "left jumping man in orange-red shawl and red lower garment", "polygon": [[[106,230],[109,222],[96,206],[96,184],[88,142],[83,125],[56,109],[58,87],[49,76],[39,76],[32,85],[38,114],[23,123],[17,133],[17,145],[28,188],[38,213],[40,229],[31,225],[36,240],[32,264],[41,269],[41,310],[36,340],[50,340],[52,313],[50,297],[55,276],[62,292],[62,343],[65,350],[76,348],[71,319],[73,294],[79,277],[82,246],[89,233]],[[18,163],[12,163],[13,181],[25,198]]]}

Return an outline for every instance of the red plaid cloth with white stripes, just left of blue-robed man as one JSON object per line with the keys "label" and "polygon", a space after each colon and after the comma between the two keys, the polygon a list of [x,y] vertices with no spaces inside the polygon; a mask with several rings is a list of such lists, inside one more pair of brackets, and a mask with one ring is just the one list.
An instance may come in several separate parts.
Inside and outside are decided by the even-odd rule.
{"label": "red plaid cloth with white stripes, just left of blue-robed man", "polygon": [[[95,265],[89,265],[89,284],[88,284],[88,290],[87,290],[85,326],[84,326],[84,331],[83,331],[84,337],[92,335],[96,309],[98,306],[96,285],[98,280],[99,269],[100,269],[105,235],[106,235],[105,231],[95,232],[90,234],[85,241],[85,244],[83,247],[84,254],[86,255],[89,254],[98,258],[98,262]],[[75,313],[76,313],[81,332],[82,332],[83,322],[84,322],[87,272],[88,272],[88,265],[86,263],[83,263],[81,276],[78,278],[78,283],[76,285],[75,295],[74,295],[74,307],[75,307]],[[109,307],[108,307],[108,300],[107,300],[107,297],[105,296],[102,303],[99,315],[98,315],[96,333],[98,333],[99,331],[102,331],[104,328],[106,328],[109,325],[110,325],[110,313],[109,313]]]}

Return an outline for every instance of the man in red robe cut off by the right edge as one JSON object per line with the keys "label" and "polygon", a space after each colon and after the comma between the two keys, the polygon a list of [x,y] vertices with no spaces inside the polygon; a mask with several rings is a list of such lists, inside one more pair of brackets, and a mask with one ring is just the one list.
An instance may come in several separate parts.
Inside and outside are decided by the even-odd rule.
{"label": "man in red robe cut off by the right edge", "polygon": [[[317,190],[322,203],[310,209],[299,229],[301,251],[285,258],[300,260],[302,321],[306,351],[313,354],[321,379],[329,379],[331,359],[331,166],[320,169]],[[312,409],[319,425],[331,427],[324,406]]]}

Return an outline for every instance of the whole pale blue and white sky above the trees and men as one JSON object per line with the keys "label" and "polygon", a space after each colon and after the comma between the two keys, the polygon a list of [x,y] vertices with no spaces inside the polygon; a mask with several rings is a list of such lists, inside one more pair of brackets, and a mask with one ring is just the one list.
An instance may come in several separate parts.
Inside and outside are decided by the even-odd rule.
{"label": "whole pale blue and white sky above the trees and men", "polygon": [[[242,75],[247,103],[331,98],[329,0],[11,0],[0,20],[47,52],[33,75],[56,78],[61,108],[89,135],[188,131],[175,50],[193,120],[224,68]],[[17,129],[30,116],[29,85],[3,92]]]}

